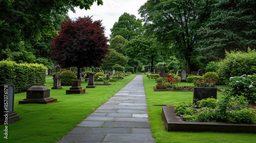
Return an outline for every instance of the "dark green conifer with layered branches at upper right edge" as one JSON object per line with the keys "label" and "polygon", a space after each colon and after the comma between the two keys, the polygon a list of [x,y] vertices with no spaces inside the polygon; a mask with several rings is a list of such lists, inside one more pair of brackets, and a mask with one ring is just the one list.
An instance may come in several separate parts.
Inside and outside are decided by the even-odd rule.
{"label": "dark green conifer with layered branches at upper right edge", "polygon": [[206,61],[225,58],[225,51],[256,46],[256,1],[221,0],[201,29],[201,52]]}

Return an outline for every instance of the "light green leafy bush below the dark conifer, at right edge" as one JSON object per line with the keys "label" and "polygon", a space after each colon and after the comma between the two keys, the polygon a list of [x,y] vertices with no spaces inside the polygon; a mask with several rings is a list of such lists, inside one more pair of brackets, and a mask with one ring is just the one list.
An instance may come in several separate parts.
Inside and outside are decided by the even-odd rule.
{"label": "light green leafy bush below the dark conifer, at right edge", "polygon": [[242,75],[253,75],[256,71],[256,51],[226,52],[226,57],[219,63],[218,75],[228,84],[229,78]]}

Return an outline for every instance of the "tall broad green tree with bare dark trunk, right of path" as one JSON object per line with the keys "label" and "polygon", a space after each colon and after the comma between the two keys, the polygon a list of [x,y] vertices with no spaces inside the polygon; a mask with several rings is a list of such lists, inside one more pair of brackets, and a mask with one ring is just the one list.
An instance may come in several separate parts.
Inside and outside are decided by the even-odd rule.
{"label": "tall broad green tree with bare dark trunk, right of path", "polygon": [[148,0],[139,13],[146,32],[156,35],[163,43],[174,44],[175,53],[186,60],[190,73],[190,60],[198,42],[198,29],[210,17],[215,0]]}

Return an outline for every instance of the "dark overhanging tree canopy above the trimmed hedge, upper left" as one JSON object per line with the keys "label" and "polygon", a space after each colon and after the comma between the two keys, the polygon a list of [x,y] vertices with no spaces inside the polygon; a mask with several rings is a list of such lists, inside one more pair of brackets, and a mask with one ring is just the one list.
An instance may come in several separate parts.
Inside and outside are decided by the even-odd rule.
{"label": "dark overhanging tree canopy above the trimmed hedge, upper left", "polygon": [[103,4],[102,0],[0,0],[0,59],[13,59],[13,54],[22,59],[29,52],[48,58],[45,53],[49,52],[49,43],[69,9],[74,11],[75,6],[90,9],[94,2]]}

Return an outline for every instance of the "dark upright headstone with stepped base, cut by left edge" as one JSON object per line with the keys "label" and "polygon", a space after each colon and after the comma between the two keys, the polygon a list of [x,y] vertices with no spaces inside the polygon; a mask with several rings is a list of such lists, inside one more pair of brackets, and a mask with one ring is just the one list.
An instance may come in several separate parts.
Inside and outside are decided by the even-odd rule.
{"label": "dark upright headstone with stepped base, cut by left edge", "polygon": [[14,111],[14,85],[0,85],[0,124],[8,125],[19,121],[19,115]]}

